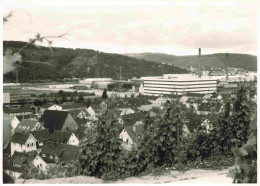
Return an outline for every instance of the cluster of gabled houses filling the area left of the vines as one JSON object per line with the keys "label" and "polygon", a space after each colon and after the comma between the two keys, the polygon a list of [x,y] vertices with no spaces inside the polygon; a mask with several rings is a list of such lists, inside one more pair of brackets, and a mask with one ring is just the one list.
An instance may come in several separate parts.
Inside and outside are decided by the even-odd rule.
{"label": "cluster of gabled houses filling the area left of the vines", "polygon": [[4,170],[18,178],[30,164],[46,171],[59,162],[77,158],[86,123],[95,112],[84,104],[46,104],[4,108],[11,119],[11,140],[4,147]]}

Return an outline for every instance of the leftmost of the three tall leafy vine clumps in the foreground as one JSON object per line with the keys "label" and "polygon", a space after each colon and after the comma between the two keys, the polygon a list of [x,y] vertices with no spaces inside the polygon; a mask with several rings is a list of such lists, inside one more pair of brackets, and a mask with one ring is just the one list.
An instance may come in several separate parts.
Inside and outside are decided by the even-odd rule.
{"label": "leftmost of the three tall leafy vine clumps in the foreground", "polygon": [[119,159],[122,150],[118,138],[119,112],[115,106],[113,99],[106,102],[96,126],[96,138],[82,145],[80,162],[84,175],[114,179],[120,174]]}

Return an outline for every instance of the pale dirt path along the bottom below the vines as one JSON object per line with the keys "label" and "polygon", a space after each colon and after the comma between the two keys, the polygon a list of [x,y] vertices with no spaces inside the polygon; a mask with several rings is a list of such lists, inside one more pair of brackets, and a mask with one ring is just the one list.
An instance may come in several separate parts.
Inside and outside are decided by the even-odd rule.
{"label": "pale dirt path along the bottom below the vines", "polygon": [[[158,184],[158,183],[232,183],[232,178],[226,177],[228,169],[225,170],[200,170],[194,169],[186,172],[171,171],[164,176],[142,176],[132,177],[125,180],[118,180],[116,182],[109,182],[111,184]],[[23,183],[22,179],[16,181],[16,183]],[[56,178],[50,180],[26,180],[25,184],[100,184],[105,183],[101,179],[86,176],[77,176],[72,178]]]}

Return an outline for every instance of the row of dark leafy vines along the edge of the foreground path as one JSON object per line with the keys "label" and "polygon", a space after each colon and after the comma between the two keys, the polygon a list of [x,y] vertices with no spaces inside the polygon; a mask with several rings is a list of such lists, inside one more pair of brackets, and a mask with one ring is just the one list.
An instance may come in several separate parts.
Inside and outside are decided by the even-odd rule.
{"label": "row of dark leafy vines along the edge of the foreground path", "polygon": [[[65,173],[57,173],[60,170],[57,168],[56,172],[49,170],[48,174],[56,177],[83,174],[115,180],[160,174],[163,170],[222,169],[234,164],[231,149],[235,149],[234,182],[253,183],[256,181],[256,125],[251,126],[250,137],[246,135],[249,134],[251,113],[245,95],[246,89],[242,87],[238,91],[233,115],[227,106],[223,114],[212,120],[213,129],[208,131],[199,127],[190,136],[183,135],[181,107],[177,103],[166,105],[163,111],[146,116],[143,135],[130,152],[121,148],[118,138],[120,124],[116,102],[113,98],[107,99],[102,115],[82,144],[77,171],[68,172],[74,170],[70,166],[75,167],[70,165],[64,169]],[[43,179],[47,179],[44,176]]]}

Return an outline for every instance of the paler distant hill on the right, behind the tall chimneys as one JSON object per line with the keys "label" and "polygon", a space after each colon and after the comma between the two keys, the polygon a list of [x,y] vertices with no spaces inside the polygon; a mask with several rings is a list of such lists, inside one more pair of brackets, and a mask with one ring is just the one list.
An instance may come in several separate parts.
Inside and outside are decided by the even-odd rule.
{"label": "paler distant hill on the right, behind the tall chimneys", "polygon": [[[180,68],[188,67],[189,65],[197,66],[198,64],[198,55],[175,56],[162,53],[129,53],[126,55],[137,59],[173,64]],[[223,53],[201,56],[201,64],[204,67],[225,68],[225,60],[226,54]],[[248,54],[229,54],[229,67],[257,71],[257,57]]]}

